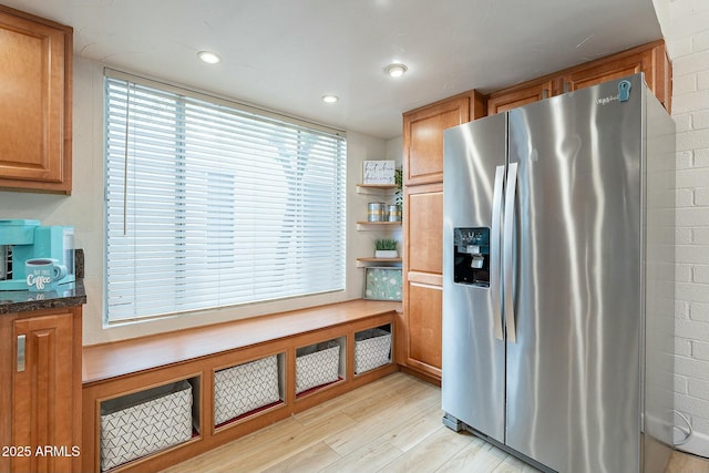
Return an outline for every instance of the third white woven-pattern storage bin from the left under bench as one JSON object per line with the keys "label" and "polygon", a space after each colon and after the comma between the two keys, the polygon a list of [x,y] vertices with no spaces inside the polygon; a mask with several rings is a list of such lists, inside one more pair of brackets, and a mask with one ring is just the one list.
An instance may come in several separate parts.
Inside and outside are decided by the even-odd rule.
{"label": "third white woven-pattern storage bin from the left under bench", "polygon": [[296,394],[340,378],[340,346],[338,342],[299,348],[296,352]]}

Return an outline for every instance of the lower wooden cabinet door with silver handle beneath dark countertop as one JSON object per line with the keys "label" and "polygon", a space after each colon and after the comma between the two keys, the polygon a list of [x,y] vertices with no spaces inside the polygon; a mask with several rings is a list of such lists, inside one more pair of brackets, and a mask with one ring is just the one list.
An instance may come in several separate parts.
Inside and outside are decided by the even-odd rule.
{"label": "lower wooden cabinet door with silver handle beneath dark countertop", "polygon": [[[24,367],[18,350],[24,337]],[[13,472],[70,472],[74,443],[72,313],[18,319],[13,333],[12,445],[30,448],[11,459]],[[39,449],[39,450],[38,450]]]}

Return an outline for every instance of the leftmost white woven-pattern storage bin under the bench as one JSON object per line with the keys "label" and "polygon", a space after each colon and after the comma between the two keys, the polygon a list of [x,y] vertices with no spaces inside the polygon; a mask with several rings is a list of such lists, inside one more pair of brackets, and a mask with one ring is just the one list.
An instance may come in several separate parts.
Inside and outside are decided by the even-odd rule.
{"label": "leftmost white woven-pattern storage bin under the bench", "polygon": [[101,471],[192,438],[192,385],[165,384],[101,403]]}

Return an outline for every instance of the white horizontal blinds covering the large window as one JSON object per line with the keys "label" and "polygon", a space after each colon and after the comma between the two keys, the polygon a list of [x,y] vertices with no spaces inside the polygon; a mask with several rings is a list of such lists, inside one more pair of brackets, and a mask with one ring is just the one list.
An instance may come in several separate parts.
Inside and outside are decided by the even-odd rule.
{"label": "white horizontal blinds covering the large window", "polygon": [[109,321],[345,288],[346,141],[107,76]]}

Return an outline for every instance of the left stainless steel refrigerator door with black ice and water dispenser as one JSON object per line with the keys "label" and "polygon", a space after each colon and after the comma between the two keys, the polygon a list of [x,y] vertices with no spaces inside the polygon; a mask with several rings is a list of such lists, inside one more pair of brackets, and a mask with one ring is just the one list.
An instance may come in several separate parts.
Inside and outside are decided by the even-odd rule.
{"label": "left stainless steel refrigerator door with black ice and water dispenser", "polygon": [[[500,208],[505,156],[505,114],[444,132],[443,410],[499,442],[504,442],[505,359],[504,342],[495,337],[501,335],[502,315],[500,278],[492,277],[500,275],[501,264],[500,241],[494,238],[500,229],[493,228],[493,196],[500,196]],[[496,175],[500,179],[495,191]],[[500,218],[494,220],[500,223]],[[486,255],[489,285],[454,282],[456,257],[464,259],[469,250],[485,251],[477,245],[458,248],[456,228],[459,240],[479,230],[492,236]],[[475,235],[469,236],[476,241]]]}

